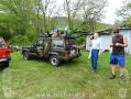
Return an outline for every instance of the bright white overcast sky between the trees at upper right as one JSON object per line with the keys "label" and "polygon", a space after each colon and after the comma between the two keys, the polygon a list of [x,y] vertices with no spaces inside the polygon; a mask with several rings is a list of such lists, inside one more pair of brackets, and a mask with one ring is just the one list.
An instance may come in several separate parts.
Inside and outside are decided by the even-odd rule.
{"label": "bright white overcast sky between the trees at upper right", "polygon": [[[56,0],[62,3],[63,0]],[[108,0],[108,7],[106,8],[105,18],[101,20],[103,23],[113,24],[116,16],[116,10],[119,9],[125,0]]]}

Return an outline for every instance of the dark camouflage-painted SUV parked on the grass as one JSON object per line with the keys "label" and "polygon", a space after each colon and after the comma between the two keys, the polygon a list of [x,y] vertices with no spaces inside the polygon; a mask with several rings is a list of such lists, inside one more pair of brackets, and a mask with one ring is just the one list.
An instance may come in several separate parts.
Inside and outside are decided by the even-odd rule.
{"label": "dark camouflage-painted SUV parked on the grass", "polygon": [[75,37],[70,36],[43,36],[33,45],[22,47],[22,55],[25,59],[47,58],[53,66],[58,66],[62,61],[70,62],[80,56],[79,47],[75,42]]}

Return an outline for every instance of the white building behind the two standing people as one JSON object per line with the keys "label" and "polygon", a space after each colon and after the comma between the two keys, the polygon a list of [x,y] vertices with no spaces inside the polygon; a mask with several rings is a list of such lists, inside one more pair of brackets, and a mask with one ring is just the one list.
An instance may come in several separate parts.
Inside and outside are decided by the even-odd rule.
{"label": "white building behind the two standing people", "polygon": [[[113,33],[112,32],[106,32],[106,31],[99,31],[98,32],[100,34],[100,40],[102,41],[101,42],[101,47],[102,47],[102,51],[109,51],[111,52],[112,48],[110,47],[110,44],[112,42],[112,35]],[[125,48],[125,52],[127,53],[130,53],[131,54],[131,28],[120,28],[120,34],[127,36],[128,38],[128,47]],[[89,42],[89,38],[90,38],[90,35],[87,35],[87,38],[86,38],[86,50],[90,50],[90,46],[88,44]]]}

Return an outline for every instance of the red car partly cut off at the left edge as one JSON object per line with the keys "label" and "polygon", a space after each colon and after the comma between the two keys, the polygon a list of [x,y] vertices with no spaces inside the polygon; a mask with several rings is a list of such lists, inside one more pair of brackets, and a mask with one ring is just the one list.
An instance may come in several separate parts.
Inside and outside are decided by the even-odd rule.
{"label": "red car partly cut off at the left edge", "polygon": [[10,59],[10,48],[3,37],[0,36],[0,66],[9,67]]}

